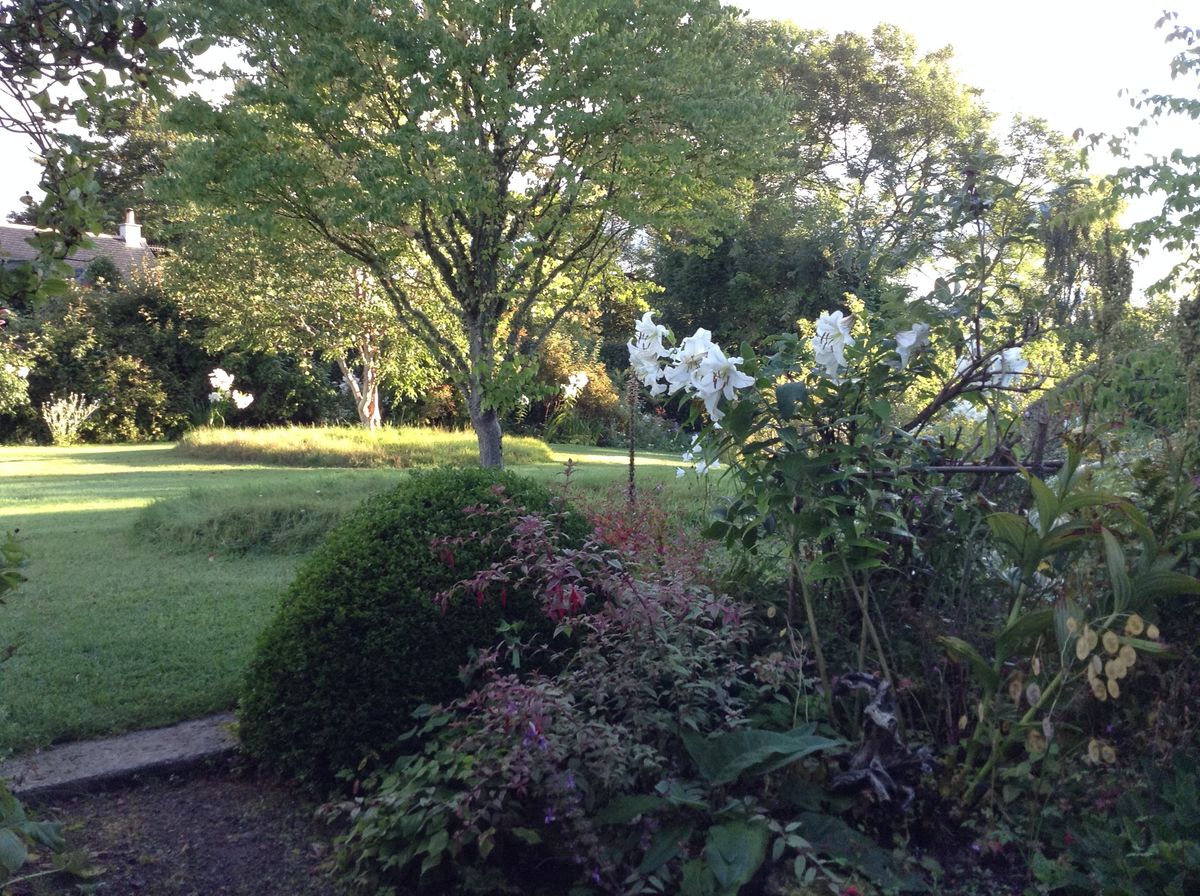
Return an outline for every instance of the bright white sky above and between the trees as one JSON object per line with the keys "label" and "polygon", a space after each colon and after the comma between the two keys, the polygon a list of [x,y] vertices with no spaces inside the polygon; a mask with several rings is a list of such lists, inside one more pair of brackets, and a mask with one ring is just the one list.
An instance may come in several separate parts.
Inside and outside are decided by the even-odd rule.
{"label": "bright white sky above and between the trees", "polygon": [[[1165,30],[1156,30],[1166,0],[738,0],[754,18],[792,19],[803,28],[829,32],[869,32],[886,22],[912,34],[922,52],[954,48],[961,80],[983,90],[984,103],[1001,116],[1024,114],[1046,119],[1066,133],[1122,131],[1136,122],[1122,90],[1194,91],[1170,79]],[[1200,25],[1200,0],[1174,6],[1180,20]],[[1200,151],[1200,124],[1177,121],[1142,133],[1141,148],[1169,152],[1176,146]],[[1096,166],[1097,173],[1111,168]],[[18,208],[19,197],[37,184],[29,150],[0,132],[0,215]],[[1134,206],[1129,220],[1145,216],[1148,204]],[[1166,261],[1158,257],[1147,267]],[[1148,273],[1139,277],[1140,282]]]}

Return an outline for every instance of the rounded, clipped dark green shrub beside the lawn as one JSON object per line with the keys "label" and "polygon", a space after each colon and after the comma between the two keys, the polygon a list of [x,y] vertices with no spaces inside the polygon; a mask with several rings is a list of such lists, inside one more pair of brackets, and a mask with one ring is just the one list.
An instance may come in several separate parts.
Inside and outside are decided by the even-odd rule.
{"label": "rounded, clipped dark green shrub beside the lawn", "polygon": [[[258,639],[241,694],[240,736],[251,756],[329,786],[364,757],[386,757],[419,705],[458,696],[460,667],[472,648],[498,641],[500,621],[550,630],[527,593],[510,593],[503,606],[455,599],[445,613],[434,603],[438,591],[498,559],[503,534],[486,534],[502,519],[463,509],[502,495],[530,511],[553,507],[544,486],[521,476],[442,469],[414,473],[330,534]],[[564,527],[572,541],[587,529],[574,515]],[[452,569],[431,548],[445,535],[470,536],[455,548]]]}

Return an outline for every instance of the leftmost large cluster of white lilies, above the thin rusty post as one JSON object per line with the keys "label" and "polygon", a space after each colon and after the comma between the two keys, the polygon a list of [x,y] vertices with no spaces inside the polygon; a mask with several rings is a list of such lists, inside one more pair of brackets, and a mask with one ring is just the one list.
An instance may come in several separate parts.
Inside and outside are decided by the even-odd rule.
{"label": "leftmost large cluster of white lilies, above the thin rusty post", "polygon": [[696,396],[713,422],[719,421],[725,416],[721,398],[732,401],[737,390],[754,385],[754,377],[738,369],[740,357],[726,357],[708,330],[697,330],[673,349],[662,343],[667,336],[667,329],[655,324],[650,312],[642,315],[629,343],[629,363],[637,378],[650,395],[683,391]]}

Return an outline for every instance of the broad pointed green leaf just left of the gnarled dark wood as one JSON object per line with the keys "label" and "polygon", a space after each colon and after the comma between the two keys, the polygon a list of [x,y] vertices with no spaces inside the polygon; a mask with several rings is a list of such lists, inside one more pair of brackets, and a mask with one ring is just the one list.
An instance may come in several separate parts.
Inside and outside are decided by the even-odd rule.
{"label": "broad pointed green leaf just left of the gnarled dark wood", "polygon": [[683,742],[703,778],[719,787],[746,771],[764,775],[805,756],[842,746],[839,740],[812,734],[814,730],[812,724],[786,733],[743,728],[715,738],[684,732]]}

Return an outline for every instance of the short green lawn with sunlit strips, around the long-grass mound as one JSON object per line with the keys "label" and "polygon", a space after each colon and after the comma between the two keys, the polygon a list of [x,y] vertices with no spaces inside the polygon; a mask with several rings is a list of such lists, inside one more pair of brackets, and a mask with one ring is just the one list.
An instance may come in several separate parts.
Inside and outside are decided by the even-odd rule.
{"label": "short green lawn with sunlit strips, around the long-grass mound", "polygon": [[[562,482],[570,457],[577,492],[625,481],[619,451],[553,446],[550,457],[512,469]],[[674,464],[642,457],[640,483],[695,506],[701,489],[676,482]],[[0,745],[19,752],[233,706],[304,553],[404,475],[222,463],[170,445],[0,447],[0,531],[19,529],[30,554],[29,581],[0,608],[0,645],[17,645],[0,668]]]}

